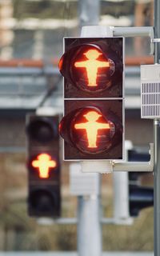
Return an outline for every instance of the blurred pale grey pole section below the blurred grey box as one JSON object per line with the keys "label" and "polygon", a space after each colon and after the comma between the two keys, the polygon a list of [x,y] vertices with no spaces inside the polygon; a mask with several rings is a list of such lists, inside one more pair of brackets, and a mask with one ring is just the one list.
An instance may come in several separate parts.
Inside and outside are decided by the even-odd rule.
{"label": "blurred pale grey pole section below the blurred grey box", "polygon": [[78,197],[78,256],[101,256],[99,195]]}

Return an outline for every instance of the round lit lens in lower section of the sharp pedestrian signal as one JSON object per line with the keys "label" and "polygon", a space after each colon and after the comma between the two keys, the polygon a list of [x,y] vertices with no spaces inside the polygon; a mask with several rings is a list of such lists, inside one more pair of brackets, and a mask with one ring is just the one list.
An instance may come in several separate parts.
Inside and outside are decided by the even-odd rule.
{"label": "round lit lens in lower section of the sharp pedestrian signal", "polygon": [[107,120],[94,107],[79,110],[70,126],[72,142],[85,154],[100,154],[109,150],[114,134],[114,122]]}

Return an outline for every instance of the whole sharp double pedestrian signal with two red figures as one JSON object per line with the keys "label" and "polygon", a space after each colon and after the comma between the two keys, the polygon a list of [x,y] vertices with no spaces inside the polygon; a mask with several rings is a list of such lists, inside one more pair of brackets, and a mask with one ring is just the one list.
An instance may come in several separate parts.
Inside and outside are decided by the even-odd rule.
{"label": "whole sharp double pedestrian signal with two red figures", "polygon": [[123,158],[123,38],[64,38],[64,160]]}

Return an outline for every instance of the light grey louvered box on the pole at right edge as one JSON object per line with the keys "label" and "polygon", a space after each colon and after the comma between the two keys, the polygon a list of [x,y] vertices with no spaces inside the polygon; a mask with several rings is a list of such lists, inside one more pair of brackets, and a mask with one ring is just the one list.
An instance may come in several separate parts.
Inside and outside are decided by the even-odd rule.
{"label": "light grey louvered box on the pole at right edge", "polygon": [[160,118],[160,65],[141,66],[141,117]]}

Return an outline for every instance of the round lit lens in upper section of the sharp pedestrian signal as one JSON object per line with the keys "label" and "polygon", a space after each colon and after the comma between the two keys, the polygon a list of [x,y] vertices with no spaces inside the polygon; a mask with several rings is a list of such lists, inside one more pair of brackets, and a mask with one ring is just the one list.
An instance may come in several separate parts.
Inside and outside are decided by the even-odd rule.
{"label": "round lit lens in upper section of the sharp pedestrian signal", "polygon": [[70,74],[80,90],[93,93],[111,86],[114,62],[96,46],[81,46],[71,60]]}

